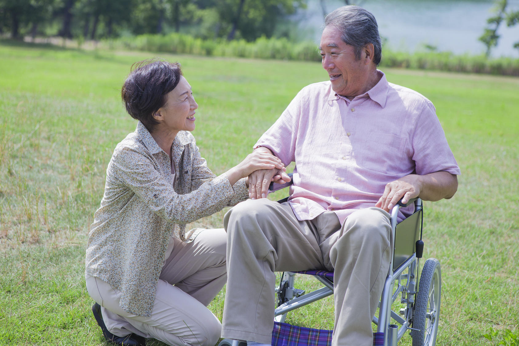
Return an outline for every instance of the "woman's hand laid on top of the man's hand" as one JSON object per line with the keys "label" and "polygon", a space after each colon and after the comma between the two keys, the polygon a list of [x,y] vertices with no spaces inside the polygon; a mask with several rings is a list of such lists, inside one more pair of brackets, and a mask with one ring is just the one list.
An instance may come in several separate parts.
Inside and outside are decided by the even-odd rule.
{"label": "woman's hand laid on top of the man's hand", "polygon": [[226,172],[226,175],[230,184],[234,185],[238,180],[248,177],[256,170],[272,168],[281,169],[283,167],[283,163],[276,156],[256,150],[247,155],[241,163],[229,169]]}

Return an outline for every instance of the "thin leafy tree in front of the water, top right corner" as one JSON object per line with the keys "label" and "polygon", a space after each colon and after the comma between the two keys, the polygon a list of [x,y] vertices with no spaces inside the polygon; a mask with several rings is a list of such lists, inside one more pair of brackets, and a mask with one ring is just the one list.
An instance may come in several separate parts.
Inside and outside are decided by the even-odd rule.
{"label": "thin leafy tree in front of the water, top right corner", "polygon": [[[507,26],[513,26],[519,22],[519,10],[508,11],[508,0],[497,0],[495,3],[495,16],[487,19],[487,27],[484,29],[483,35],[479,40],[483,42],[486,47],[486,56],[490,56],[490,51],[497,46],[500,35],[497,33],[501,22],[506,21]],[[519,41],[513,45],[514,48],[519,49]]]}

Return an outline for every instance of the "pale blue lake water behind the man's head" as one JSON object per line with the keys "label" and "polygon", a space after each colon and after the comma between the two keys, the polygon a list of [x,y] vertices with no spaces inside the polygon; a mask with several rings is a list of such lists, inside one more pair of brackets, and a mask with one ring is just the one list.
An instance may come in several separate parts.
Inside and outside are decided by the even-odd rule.
{"label": "pale blue lake water behind the man's head", "polygon": [[[339,0],[323,3],[326,12],[345,4]],[[358,0],[356,4],[373,13],[380,35],[391,49],[412,52],[425,50],[427,44],[454,54],[485,52],[478,38],[494,7],[492,0]],[[509,0],[508,9],[519,10],[519,0]],[[308,0],[307,9],[294,19],[299,23],[300,37],[318,44],[324,22],[320,1]],[[498,34],[501,37],[491,55],[519,58],[519,49],[513,48],[519,41],[519,24],[508,28],[503,22]]]}

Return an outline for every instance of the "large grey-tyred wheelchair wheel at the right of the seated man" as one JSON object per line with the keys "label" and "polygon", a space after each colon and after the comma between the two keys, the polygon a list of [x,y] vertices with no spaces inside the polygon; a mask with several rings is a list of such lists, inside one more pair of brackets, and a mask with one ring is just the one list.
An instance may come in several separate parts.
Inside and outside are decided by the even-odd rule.
{"label": "large grey-tyred wheelchair wheel at the right of the seated man", "polygon": [[411,337],[413,346],[434,346],[440,321],[442,276],[440,261],[428,259],[424,264],[416,296]]}

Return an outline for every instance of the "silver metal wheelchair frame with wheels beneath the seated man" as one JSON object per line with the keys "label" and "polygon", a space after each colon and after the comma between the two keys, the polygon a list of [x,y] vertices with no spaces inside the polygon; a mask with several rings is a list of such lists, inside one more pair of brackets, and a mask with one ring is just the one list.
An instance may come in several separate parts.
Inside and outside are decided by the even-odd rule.
{"label": "silver metal wheelchair frame with wheels beneath the seated man", "polygon": [[[286,198],[279,202],[285,200]],[[416,222],[419,233],[415,232],[417,239],[413,239],[416,241],[413,244],[414,247],[409,254],[405,255],[408,257],[402,257],[400,254],[395,261],[394,249],[397,248],[397,226],[399,225],[398,211],[400,207],[411,203],[414,203],[415,211],[404,221]],[[419,258],[422,257],[424,244],[421,241],[422,213],[423,206],[420,198],[415,198],[406,205],[400,201],[391,210],[393,256],[391,256],[390,270],[378,304],[379,313],[372,320],[377,326],[374,335],[378,335],[380,339],[383,335],[384,346],[396,346],[407,330],[411,330],[413,346],[434,346],[436,342],[441,302],[441,270],[440,262],[437,259],[428,259],[422,269],[419,285],[417,285]],[[305,294],[304,290],[294,287],[296,273],[298,272],[288,272],[287,280],[283,280],[283,273],[279,287],[275,288],[279,299],[278,307],[275,309],[275,322],[282,323],[285,321],[286,313],[333,294],[333,273],[318,272],[315,275],[312,273],[311,275],[324,286],[308,294]],[[306,272],[299,273],[306,274]],[[400,303],[405,307],[399,312],[395,312],[391,307],[399,295],[401,295]],[[243,343],[224,339],[218,346],[243,346]]]}

